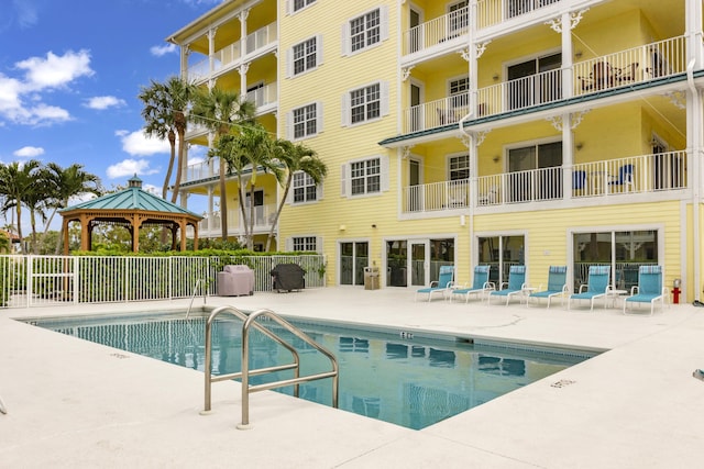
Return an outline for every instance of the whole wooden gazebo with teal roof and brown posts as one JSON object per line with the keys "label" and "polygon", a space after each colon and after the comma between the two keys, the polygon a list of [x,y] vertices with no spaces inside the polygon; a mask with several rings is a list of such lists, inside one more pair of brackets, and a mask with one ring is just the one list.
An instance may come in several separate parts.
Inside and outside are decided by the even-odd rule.
{"label": "whole wooden gazebo with teal roof and brown posts", "polygon": [[68,224],[80,223],[80,249],[91,249],[96,225],[108,223],[127,227],[132,234],[132,252],[140,249],[140,227],[162,225],[172,232],[172,249],[176,249],[176,233],[180,231],[180,249],[186,250],[186,228],[194,227],[194,249],[198,248],[198,222],[202,216],[183,206],[142,190],[142,179],[134,175],[127,189],[109,193],[62,210],[64,254],[68,255]]}

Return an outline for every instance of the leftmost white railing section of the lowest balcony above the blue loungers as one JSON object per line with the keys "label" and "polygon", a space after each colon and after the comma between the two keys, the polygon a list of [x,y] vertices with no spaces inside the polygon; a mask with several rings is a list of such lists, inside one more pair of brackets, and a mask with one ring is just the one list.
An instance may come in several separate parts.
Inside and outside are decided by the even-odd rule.
{"label": "leftmost white railing section of the lowest balcony above the blue loungers", "polygon": [[470,203],[470,183],[466,179],[408,186],[403,192],[404,213],[463,209]]}

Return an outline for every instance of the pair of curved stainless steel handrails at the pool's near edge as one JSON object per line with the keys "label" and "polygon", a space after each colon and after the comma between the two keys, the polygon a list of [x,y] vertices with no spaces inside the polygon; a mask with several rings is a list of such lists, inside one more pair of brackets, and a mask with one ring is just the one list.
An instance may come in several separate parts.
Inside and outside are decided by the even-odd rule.
{"label": "pair of curved stainless steel handrails at the pool's near edge", "polygon": [[[235,373],[220,375],[220,376],[215,376],[213,377],[210,373],[211,362],[212,362],[211,327],[212,327],[212,322],[213,322],[215,317],[217,315],[219,315],[221,312],[226,312],[226,311],[232,313],[234,316],[237,316],[238,319],[243,321],[243,324],[242,324],[242,370],[240,372],[235,372]],[[286,331],[288,331],[289,333],[294,334],[296,337],[300,338],[306,344],[310,345],[316,350],[320,351],[322,355],[328,357],[328,359],[330,360],[332,369],[330,371],[324,371],[324,372],[320,372],[320,373],[315,373],[315,375],[308,375],[308,376],[305,376],[305,377],[300,377],[299,376],[300,358],[299,358],[298,353],[296,351],[296,349],[290,344],[287,344],[282,337],[277,336],[274,332],[272,332],[272,331],[267,330],[266,327],[262,326],[261,324],[258,324],[256,322],[256,320],[260,316],[266,316],[270,320],[276,322],[278,325],[284,327]],[[275,342],[280,344],[283,347],[288,349],[292,353],[293,357],[294,357],[294,362],[293,364],[285,364],[285,365],[277,365],[277,366],[274,366],[274,367],[266,367],[266,368],[258,368],[258,369],[250,370],[250,364],[249,364],[249,356],[250,356],[249,334],[250,334],[250,328],[251,327],[255,327],[257,331],[262,332],[267,337],[274,339]],[[264,373],[268,373],[268,372],[282,371],[282,370],[287,370],[287,369],[293,369],[294,370],[294,378],[279,380],[279,381],[274,381],[274,382],[268,382],[268,383],[258,384],[258,386],[250,386],[250,376],[264,375]],[[202,413],[208,413],[211,410],[211,386],[212,386],[213,381],[224,381],[224,380],[231,380],[231,379],[241,378],[241,380],[242,380],[242,422],[238,425],[238,428],[240,428],[240,429],[249,429],[249,428],[252,427],[250,425],[250,393],[256,392],[256,391],[265,391],[265,390],[270,390],[270,389],[293,386],[294,387],[294,395],[296,398],[298,398],[298,384],[300,382],[307,382],[307,381],[315,381],[315,380],[319,380],[319,379],[332,378],[332,406],[336,407],[336,409],[338,407],[340,372],[339,372],[339,366],[338,366],[338,360],[337,360],[336,356],[330,350],[328,350],[326,347],[323,347],[322,345],[318,344],[312,338],[310,338],[301,330],[299,330],[298,327],[294,326],[293,324],[290,324],[288,321],[284,320],[282,316],[279,316],[278,314],[276,314],[272,310],[266,310],[266,309],[257,310],[257,311],[255,311],[255,312],[253,312],[253,313],[251,313],[249,315],[246,313],[238,310],[234,306],[220,306],[220,308],[213,310],[210,313],[210,315],[208,316],[208,321],[206,322],[205,371],[206,371],[205,372],[205,375],[206,375],[206,399],[205,399],[206,403],[205,403],[205,410],[204,410]]]}

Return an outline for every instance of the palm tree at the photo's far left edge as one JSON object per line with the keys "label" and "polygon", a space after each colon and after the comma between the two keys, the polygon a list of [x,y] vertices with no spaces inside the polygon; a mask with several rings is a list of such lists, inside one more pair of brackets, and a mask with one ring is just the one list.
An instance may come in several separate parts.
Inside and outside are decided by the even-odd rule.
{"label": "palm tree at the photo's far left edge", "polygon": [[32,191],[40,191],[41,185],[35,183],[40,161],[30,159],[21,165],[19,161],[0,166],[0,194],[4,196],[4,203],[0,209],[3,213],[14,209],[16,214],[18,237],[22,243],[22,205]]}

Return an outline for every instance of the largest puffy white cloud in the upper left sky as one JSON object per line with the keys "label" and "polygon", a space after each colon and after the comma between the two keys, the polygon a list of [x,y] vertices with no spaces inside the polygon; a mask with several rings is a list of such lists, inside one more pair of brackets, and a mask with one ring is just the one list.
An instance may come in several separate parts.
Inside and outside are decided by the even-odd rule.
{"label": "largest puffy white cloud in the upper left sky", "polygon": [[90,68],[90,53],[86,49],[68,51],[62,56],[48,52],[46,58],[30,57],[14,66],[25,71],[24,86],[28,90],[62,88],[79,77],[95,74]]}

